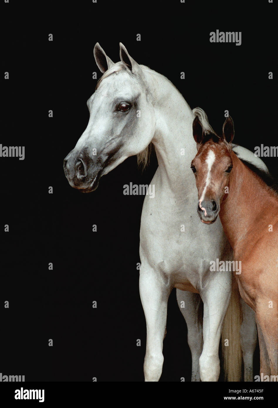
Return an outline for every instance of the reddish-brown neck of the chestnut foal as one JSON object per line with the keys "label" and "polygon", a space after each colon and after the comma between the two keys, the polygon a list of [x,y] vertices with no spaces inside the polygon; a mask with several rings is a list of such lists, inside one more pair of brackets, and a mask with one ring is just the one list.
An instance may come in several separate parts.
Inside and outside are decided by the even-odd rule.
{"label": "reddish-brown neck of the chestnut foal", "polygon": [[277,222],[278,197],[233,151],[231,156],[229,193],[224,196],[219,216],[233,250],[241,253],[254,236]]}

